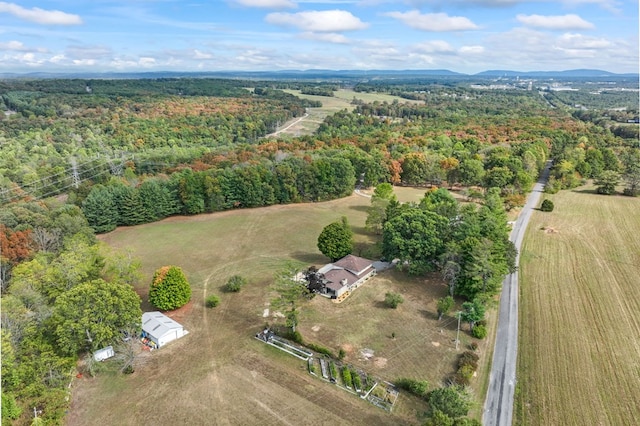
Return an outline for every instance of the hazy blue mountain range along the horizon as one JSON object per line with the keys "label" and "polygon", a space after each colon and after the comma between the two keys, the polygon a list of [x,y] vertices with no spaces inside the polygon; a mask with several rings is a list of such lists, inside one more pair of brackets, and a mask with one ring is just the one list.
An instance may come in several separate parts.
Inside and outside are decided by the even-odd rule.
{"label": "hazy blue mountain range along the horizon", "polygon": [[205,72],[32,72],[0,73],[0,78],[241,78],[241,79],[381,79],[381,78],[638,78],[636,73],[616,74],[603,70],[576,69],[566,71],[513,71],[487,70],[477,74],[464,74],[446,69],[438,70],[279,70],[279,71],[205,71]]}

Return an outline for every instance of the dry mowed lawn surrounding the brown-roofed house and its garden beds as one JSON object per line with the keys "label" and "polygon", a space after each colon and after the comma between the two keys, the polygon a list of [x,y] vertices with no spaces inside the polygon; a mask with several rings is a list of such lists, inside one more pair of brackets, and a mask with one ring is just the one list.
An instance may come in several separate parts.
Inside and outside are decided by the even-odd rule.
{"label": "dry mowed lawn surrounding the brown-roofed house and its garden beds", "polygon": [[[386,413],[313,378],[302,361],[253,338],[267,322],[282,321],[271,310],[265,316],[274,272],[287,262],[308,267],[327,261],[316,248],[324,226],[345,215],[358,247],[371,244],[363,230],[369,203],[353,195],[325,203],[174,217],[103,235],[106,243],[141,259],[144,278],[137,291],[143,310],[151,310],[146,297],[156,268],[171,264],[185,270],[192,302],[172,315],[189,335],[145,352],[132,375],[74,381],[67,423],[418,424],[417,414],[426,406],[416,398],[402,395],[394,413]],[[222,292],[233,274],[247,277],[249,284],[239,293]],[[397,310],[382,305],[387,291],[404,296]],[[446,291],[437,277],[386,271],[342,304],[321,297],[303,304],[299,329],[309,341],[335,352],[343,348],[345,361],[382,379],[412,377],[439,386],[470,340],[462,332],[456,351],[456,321],[436,319],[435,299]],[[212,293],[221,303],[206,309],[204,299]]]}

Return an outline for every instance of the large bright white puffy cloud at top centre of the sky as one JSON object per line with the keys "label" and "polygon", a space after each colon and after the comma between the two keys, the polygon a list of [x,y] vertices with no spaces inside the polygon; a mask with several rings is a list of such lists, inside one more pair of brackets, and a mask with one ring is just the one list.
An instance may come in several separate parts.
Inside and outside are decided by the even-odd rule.
{"label": "large bright white puffy cloud at top centre of the sky", "polygon": [[294,27],[308,32],[341,32],[363,30],[369,26],[346,10],[310,10],[298,13],[270,13],[269,24]]}

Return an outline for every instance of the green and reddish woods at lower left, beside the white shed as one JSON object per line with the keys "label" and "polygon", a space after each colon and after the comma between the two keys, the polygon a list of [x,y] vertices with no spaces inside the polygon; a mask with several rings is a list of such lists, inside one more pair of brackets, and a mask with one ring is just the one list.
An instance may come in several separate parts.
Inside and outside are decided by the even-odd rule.
{"label": "green and reddish woods at lower left, beside the white shed", "polygon": [[79,354],[136,334],[138,265],[97,244],[72,205],[0,208],[2,424],[61,424]]}

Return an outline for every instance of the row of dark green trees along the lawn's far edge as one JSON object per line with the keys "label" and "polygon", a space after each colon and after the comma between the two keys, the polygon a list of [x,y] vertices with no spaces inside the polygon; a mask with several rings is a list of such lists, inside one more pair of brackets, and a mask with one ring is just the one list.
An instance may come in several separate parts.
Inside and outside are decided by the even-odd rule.
{"label": "row of dark green trees along the lawn's far edge", "polygon": [[349,160],[338,156],[292,156],[279,162],[237,164],[224,169],[185,168],[168,178],[134,182],[114,178],[107,185],[91,189],[82,201],[82,209],[96,232],[175,214],[344,197],[353,191],[355,172]]}

